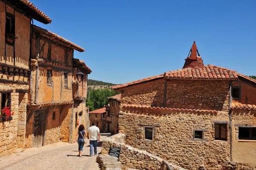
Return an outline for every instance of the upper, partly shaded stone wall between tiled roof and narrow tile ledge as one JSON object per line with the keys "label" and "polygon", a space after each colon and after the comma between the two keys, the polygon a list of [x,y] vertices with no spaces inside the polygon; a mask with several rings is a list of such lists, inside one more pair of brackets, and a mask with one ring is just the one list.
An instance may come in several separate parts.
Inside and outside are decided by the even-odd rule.
{"label": "upper, partly shaded stone wall between tiled roof and narrow tile ledge", "polygon": [[126,87],[122,91],[121,103],[228,111],[228,97],[229,81],[164,81],[160,79]]}

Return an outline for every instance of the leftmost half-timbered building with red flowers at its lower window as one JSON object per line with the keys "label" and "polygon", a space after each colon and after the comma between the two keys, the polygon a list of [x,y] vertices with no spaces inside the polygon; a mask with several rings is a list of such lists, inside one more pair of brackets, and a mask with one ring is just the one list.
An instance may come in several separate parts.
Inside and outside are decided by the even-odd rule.
{"label": "leftmost half-timbered building with red flowers at its lower window", "polygon": [[0,120],[0,156],[25,147],[33,19],[51,23],[27,0],[0,0],[0,108],[14,112],[12,120]]}

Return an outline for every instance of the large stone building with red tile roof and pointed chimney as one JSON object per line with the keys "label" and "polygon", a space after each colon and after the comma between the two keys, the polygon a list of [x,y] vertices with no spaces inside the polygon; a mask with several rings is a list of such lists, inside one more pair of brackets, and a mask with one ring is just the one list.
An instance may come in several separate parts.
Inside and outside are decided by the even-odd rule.
{"label": "large stone building with red tile roof and pointed chimney", "polygon": [[204,65],[195,42],[182,69],[113,89],[126,144],[188,170],[256,168],[256,80]]}

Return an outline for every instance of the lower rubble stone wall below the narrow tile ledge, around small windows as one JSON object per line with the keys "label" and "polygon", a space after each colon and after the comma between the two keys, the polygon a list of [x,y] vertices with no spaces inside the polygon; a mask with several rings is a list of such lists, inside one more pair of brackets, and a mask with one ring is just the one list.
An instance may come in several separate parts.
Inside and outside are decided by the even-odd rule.
{"label": "lower rubble stone wall below the narrow tile ledge, around small windows", "polygon": [[[198,170],[220,170],[230,158],[229,132],[227,141],[214,140],[213,121],[226,121],[227,112],[177,112],[153,109],[155,114],[119,113],[119,132],[126,134],[126,143],[141,150],[160,156],[173,164]],[[144,127],[153,127],[153,140],[145,140]],[[203,130],[204,139],[193,138],[193,130]]]}

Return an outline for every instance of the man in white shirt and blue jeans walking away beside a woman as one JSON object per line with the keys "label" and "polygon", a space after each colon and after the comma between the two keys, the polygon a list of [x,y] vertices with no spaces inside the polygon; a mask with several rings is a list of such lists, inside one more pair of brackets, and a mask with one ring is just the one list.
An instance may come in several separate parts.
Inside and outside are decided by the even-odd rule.
{"label": "man in white shirt and blue jeans walking away beside a woman", "polygon": [[97,155],[97,145],[99,141],[99,127],[96,127],[96,123],[93,122],[92,126],[87,130],[87,138],[90,140],[90,156]]}

